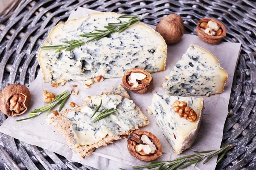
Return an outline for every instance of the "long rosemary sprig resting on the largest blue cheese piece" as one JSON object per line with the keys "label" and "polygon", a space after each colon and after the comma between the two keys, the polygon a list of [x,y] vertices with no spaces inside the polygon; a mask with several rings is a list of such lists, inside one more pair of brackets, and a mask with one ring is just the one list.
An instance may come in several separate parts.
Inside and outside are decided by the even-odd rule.
{"label": "long rosemary sprig resting on the largest blue cheese piece", "polygon": [[130,20],[128,20],[127,22],[124,22],[124,23],[108,23],[107,26],[104,26],[104,28],[106,28],[105,30],[95,29],[92,32],[79,35],[80,37],[91,38],[90,40],[86,41],[84,39],[80,39],[80,40],[74,40],[74,41],[62,41],[66,44],[43,46],[43,47],[41,47],[41,49],[43,49],[43,50],[56,49],[55,53],[57,53],[58,51],[61,51],[64,48],[66,48],[65,51],[70,51],[73,48],[83,45],[85,42],[91,42],[93,40],[98,41],[99,39],[106,37],[109,34],[113,34],[115,32],[121,33],[126,28],[139,22],[140,20],[143,19],[143,17],[145,17],[147,15],[148,15],[148,13],[145,13],[143,15],[122,15],[122,16],[118,17],[117,19],[130,18]]}

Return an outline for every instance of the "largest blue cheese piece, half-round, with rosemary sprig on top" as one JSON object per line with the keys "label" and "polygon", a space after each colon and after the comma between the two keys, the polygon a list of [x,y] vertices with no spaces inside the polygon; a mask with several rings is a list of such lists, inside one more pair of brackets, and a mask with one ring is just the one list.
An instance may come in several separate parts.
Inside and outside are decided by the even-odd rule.
{"label": "largest blue cheese piece, half-round, with rosemary sprig on top", "polygon": [[[63,40],[79,40],[80,34],[94,29],[105,30],[108,23],[120,23],[129,18],[117,19],[122,14],[93,13],[55,26],[42,46],[63,45]],[[44,82],[52,80],[80,81],[93,77],[122,77],[130,68],[143,68],[149,73],[164,71],[167,45],[153,28],[136,23],[120,34],[118,32],[98,41],[84,43],[71,51],[65,49],[40,50],[38,61]]]}

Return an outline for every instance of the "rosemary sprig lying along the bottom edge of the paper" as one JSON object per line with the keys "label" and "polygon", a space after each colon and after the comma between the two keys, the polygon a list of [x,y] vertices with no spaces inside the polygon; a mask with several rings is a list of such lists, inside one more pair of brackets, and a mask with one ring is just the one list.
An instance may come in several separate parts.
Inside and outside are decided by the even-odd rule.
{"label": "rosemary sprig lying along the bottom edge of the paper", "polygon": [[188,167],[191,164],[195,164],[195,166],[196,166],[198,164],[198,162],[204,160],[205,158],[206,158],[206,160],[204,161],[203,164],[206,164],[214,156],[217,156],[218,154],[222,153],[221,156],[217,160],[217,163],[218,163],[221,161],[221,159],[223,159],[223,157],[227,153],[227,151],[233,147],[234,147],[234,145],[230,144],[230,145],[220,148],[219,150],[206,150],[206,151],[202,151],[202,152],[195,151],[196,154],[182,156],[182,157],[177,158],[172,161],[151,162],[148,165],[137,166],[137,167],[133,167],[133,168],[134,169],[139,169],[139,168],[152,169],[152,168],[158,167],[158,170],[176,170],[179,167],[179,169],[183,169],[185,167]]}

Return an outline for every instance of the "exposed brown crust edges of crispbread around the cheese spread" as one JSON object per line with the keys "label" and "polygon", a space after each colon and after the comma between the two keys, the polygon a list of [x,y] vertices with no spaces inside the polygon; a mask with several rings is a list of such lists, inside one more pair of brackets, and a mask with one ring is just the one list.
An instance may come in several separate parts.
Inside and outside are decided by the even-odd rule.
{"label": "exposed brown crust edges of crispbread around the cheese spread", "polygon": [[[102,93],[101,95],[103,95],[103,94],[107,94],[107,95],[118,94],[123,97],[122,99],[124,99],[124,98],[131,99],[128,92],[122,87],[122,85],[119,85],[116,88],[111,88],[107,93]],[[84,103],[84,105],[87,105],[86,102]],[[54,125],[54,127],[58,130],[58,132],[61,133],[65,137],[67,145],[71,149],[73,149],[76,153],[78,153],[79,156],[81,156],[82,158],[84,158],[85,156],[90,156],[92,154],[92,152],[98,147],[106,146],[109,143],[113,143],[114,140],[122,139],[121,138],[122,135],[129,135],[134,130],[139,129],[139,127],[149,125],[148,118],[143,114],[143,112],[140,110],[140,108],[136,105],[136,110],[139,113],[137,115],[137,118],[142,119],[143,123],[140,123],[139,125],[134,126],[130,130],[126,130],[124,133],[122,133],[120,135],[116,135],[116,136],[107,135],[105,138],[103,138],[102,140],[100,140],[99,142],[96,142],[94,144],[90,144],[87,146],[85,146],[85,145],[76,146],[75,142],[74,142],[75,139],[73,138],[73,135],[70,133],[70,125],[73,123],[73,121],[67,119],[66,114],[69,111],[81,112],[81,108],[84,105],[82,105],[82,106],[76,105],[74,108],[67,109],[66,111],[64,111],[56,116],[53,114],[49,115],[49,123]]]}

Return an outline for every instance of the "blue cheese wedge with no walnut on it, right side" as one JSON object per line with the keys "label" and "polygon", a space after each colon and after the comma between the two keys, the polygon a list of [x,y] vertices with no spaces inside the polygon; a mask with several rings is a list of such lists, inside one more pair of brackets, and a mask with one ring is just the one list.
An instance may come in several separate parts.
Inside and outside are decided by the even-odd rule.
{"label": "blue cheese wedge with no walnut on it, right side", "polygon": [[224,91],[228,75],[209,51],[190,45],[165,78],[167,82],[163,82],[163,88],[168,95],[209,96]]}

